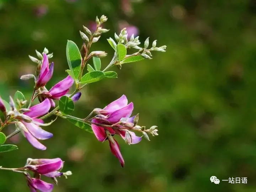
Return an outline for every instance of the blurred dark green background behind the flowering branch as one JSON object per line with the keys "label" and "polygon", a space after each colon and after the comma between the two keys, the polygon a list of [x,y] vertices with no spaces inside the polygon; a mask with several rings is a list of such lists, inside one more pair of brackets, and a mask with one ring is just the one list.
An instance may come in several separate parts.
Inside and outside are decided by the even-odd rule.
{"label": "blurred dark green background behind the flowering branch", "polygon": [[[21,81],[47,47],[55,64],[50,88],[67,74],[67,39],[80,47],[79,30],[105,14],[110,32],[92,50],[105,50],[106,66],[113,50],[106,41],[120,27],[135,26],[140,41],[166,45],[153,60],[125,64],[118,79],[90,84],[82,91],[74,115],[83,118],[122,94],[134,102],[139,124],[157,125],[151,142],[126,145],[121,168],[108,142],[100,143],[63,119],[46,130],[46,151],[33,148],[22,135],[12,143],[19,150],[0,154],[0,165],[20,167],[27,158],[65,160],[54,192],[254,192],[256,190],[256,2],[254,0],[1,0],[0,93],[22,91],[30,98],[33,84]],[[129,23],[129,24],[128,24]],[[89,63],[92,63],[91,61]],[[5,129],[10,133],[13,127]],[[11,143],[11,142],[10,142]],[[210,182],[220,179],[219,185]],[[229,177],[247,177],[231,184]],[[49,181],[49,180],[46,180]],[[21,174],[1,171],[1,192],[28,191]]]}

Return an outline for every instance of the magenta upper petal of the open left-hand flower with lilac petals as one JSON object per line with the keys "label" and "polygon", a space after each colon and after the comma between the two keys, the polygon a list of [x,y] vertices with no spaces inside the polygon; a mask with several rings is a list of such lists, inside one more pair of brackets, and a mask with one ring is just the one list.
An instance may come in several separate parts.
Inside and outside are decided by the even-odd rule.
{"label": "magenta upper petal of the open left-hand flower with lilac petals", "polygon": [[31,118],[37,118],[39,116],[46,114],[50,110],[50,101],[49,101],[49,99],[46,99],[42,103],[34,105],[33,107],[30,107],[29,109],[30,109],[30,111],[25,112],[23,114],[25,114]]}

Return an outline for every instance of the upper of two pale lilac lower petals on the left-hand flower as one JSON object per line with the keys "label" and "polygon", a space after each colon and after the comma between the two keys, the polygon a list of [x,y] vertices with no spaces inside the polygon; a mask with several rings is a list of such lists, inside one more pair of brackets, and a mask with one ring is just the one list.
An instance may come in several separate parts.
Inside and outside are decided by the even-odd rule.
{"label": "upper of two pale lilac lower petals on the left-hand flower", "polygon": [[53,136],[52,133],[49,133],[43,130],[41,127],[38,127],[34,123],[26,123],[26,122],[22,122],[22,123],[26,126],[28,131],[37,139],[45,140]]}

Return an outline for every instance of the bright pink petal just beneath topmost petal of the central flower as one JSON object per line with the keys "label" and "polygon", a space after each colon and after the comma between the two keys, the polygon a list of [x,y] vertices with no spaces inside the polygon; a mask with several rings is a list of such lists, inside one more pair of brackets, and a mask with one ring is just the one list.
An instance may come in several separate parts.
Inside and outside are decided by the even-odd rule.
{"label": "bright pink petal just beneath topmost petal of the central flower", "polygon": [[110,117],[108,117],[107,120],[110,121],[111,123],[116,123],[123,117],[130,117],[130,115],[132,114],[132,111],[133,111],[133,103],[131,102],[129,103],[129,105],[111,113]]}

